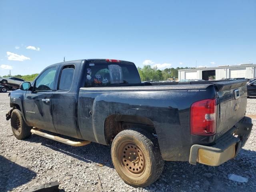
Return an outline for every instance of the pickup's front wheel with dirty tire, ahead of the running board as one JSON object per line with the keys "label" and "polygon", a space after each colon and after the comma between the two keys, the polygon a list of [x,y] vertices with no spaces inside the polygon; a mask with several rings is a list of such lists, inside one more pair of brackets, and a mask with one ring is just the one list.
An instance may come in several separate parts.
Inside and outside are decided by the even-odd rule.
{"label": "pickup's front wheel with dirty tire, ahead of the running board", "polygon": [[14,109],[11,114],[11,127],[14,136],[19,139],[28,138],[31,135],[31,128],[28,126],[22,117],[22,113],[18,109]]}

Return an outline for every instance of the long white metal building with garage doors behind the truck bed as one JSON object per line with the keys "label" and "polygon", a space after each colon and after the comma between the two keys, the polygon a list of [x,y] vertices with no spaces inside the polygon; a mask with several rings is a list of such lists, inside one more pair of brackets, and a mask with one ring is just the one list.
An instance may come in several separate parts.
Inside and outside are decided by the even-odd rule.
{"label": "long white metal building with garage doors behind the truck bed", "polygon": [[215,76],[216,80],[239,77],[256,78],[256,64],[178,70],[179,81],[185,79],[208,80],[209,76]]}

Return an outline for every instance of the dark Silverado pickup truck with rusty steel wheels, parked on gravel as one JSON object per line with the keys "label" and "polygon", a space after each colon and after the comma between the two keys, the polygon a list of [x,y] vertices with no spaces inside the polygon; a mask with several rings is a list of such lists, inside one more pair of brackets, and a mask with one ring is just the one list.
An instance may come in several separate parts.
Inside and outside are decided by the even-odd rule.
{"label": "dark Silverado pickup truck with rusty steel wheels, parked on gravel", "polygon": [[10,93],[6,119],[18,139],[111,145],[120,177],[144,187],[164,160],[218,166],[236,157],[252,129],[246,82],[141,83],[132,62],[62,62]]}

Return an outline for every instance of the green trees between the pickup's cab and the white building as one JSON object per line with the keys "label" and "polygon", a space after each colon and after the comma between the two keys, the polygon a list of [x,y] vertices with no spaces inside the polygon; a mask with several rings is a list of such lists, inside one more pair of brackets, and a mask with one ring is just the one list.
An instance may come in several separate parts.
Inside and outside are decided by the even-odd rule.
{"label": "green trees between the pickup's cab and the white building", "polygon": [[143,68],[138,67],[141,81],[161,81],[167,80],[168,78],[178,78],[178,70],[180,69],[194,69],[189,67],[177,67],[177,68],[166,68],[159,70],[157,67],[151,67],[150,65],[144,65]]}

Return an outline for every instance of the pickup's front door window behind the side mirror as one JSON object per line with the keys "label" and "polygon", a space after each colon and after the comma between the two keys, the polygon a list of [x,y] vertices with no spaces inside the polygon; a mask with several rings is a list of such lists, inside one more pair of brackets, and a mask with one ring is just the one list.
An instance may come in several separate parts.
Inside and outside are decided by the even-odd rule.
{"label": "pickup's front door window behind the side mirror", "polygon": [[46,69],[36,80],[35,91],[53,90],[57,67]]}

